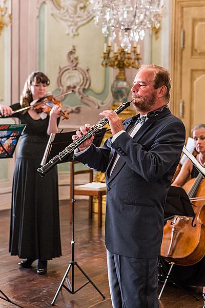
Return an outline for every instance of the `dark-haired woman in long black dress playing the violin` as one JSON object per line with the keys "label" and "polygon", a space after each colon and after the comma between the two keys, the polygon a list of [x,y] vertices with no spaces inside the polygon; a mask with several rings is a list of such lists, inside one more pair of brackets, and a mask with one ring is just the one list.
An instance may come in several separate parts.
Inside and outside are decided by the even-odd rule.
{"label": "dark-haired woman in long black dress playing the violin", "polygon": [[50,84],[42,72],[32,72],[26,80],[20,103],[0,105],[3,116],[17,117],[26,124],[18,148],[12,188],[10,228],[11,255],[24,260],[18,265],[32,267],[37,261],[37,274],[47,272],[47,260],[61,256],[57,169],[42,179],[37,168],[42,160],[49,135],[58,132],[60,108],[54,105],[47,115],[34,108],[13,113],[20,107],[29,106],[47,94]]}

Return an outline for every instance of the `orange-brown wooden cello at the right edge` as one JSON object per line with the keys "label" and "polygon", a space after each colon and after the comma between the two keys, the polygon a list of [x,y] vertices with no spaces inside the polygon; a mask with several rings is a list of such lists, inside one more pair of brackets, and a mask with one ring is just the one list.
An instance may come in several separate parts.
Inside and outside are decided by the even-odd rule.
{"label": "orange-brown wooden cello at the right edge", "polygon": [[183,188],[193,203],[195,217],[174,216],[163,230],[160,255],[176,265],[193,265],[205,255],[205,179],[199,173]]}

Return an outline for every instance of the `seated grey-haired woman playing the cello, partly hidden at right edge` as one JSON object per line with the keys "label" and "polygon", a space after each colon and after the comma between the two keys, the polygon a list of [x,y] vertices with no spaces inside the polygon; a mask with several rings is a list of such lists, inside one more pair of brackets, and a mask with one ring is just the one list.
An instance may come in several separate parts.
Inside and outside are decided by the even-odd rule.
{"label": "seated grey-haired woman playing the cello, partly hidden at right edge", "polygon": [[[197,151],[196,159],[204,166],[205,164],[205,124],[200,124],[192,129],[193,139],[195,142],[195,149]],[[179,174],[172,183],[173,186],[182,187],[190,178],[196,178],[198,170],[187,159],[182,165]],[[205,203],[205,201],[204,201]],[[168,263],[163,261],[165,267],[168,267]],[[172,269],[172,279],[176,283],[183,285],[196,285],[203,286],[202,297],[205,300],[205,257],[194,265],[181,266],[175,265]]]}

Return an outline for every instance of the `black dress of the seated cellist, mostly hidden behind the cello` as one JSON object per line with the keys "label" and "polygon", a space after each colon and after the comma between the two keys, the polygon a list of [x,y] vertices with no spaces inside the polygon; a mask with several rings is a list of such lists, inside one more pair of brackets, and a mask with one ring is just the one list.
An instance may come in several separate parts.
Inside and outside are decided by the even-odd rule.
{"label": "black dress of the seated cellist, mostly hidden behind the cello", "polygon": [[[191,177],[196,178],[199,171],[193,166]],[[170,264],[160,257],[162,263],[162,274],[165,276],[168,273]],[[166,276],[165,276],[166,277]],[[198,263],[194,265],[182,266],[174,265],[172,267],[171,280],[177,284],[205,286],[205,257],[203,257]]]}

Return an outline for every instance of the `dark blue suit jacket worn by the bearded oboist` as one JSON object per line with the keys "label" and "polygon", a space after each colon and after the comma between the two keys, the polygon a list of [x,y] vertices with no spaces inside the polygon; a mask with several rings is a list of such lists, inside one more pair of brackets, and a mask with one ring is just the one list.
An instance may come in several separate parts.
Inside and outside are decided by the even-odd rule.
{"label": "dark blue suit jacket worn by the bearded oboist", "polygon": [[[130,119],[124,122],[129,128]],[[77,160],[106,172],[105,241],[115,254],[157,258],[163,232],[163,209],[185,142],[185,126],[163,109],[131,138],[122,133],[111,143],[92,145]],[[111,176],[115,151],[120,158]]]}

